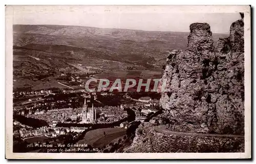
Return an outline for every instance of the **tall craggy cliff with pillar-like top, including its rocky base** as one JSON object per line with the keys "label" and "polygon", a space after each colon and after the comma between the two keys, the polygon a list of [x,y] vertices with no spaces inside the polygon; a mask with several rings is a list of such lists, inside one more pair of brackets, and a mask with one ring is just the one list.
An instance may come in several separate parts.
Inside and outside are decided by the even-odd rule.
{"label": "tall craggy cliff with pillar-like top, including its rocky base", "polygon": [[[186,50],[173,50],[169,53],[160,80],[160,86],[166,81],[167,91],[162,93],[160,99],[163,113],[158,116],[158,121],[167,125],[167,132],[178,132],[182,136],[172,138],[160,132],[166,142],[172,143],[166,152],[187,152],[186,148],[183,150],[184,145],[187,145],[183,142],[184,132],[218,135],[209,139],[220,145],[216,149],[211,148],[212,144],[205,145],[208,142],[206,138],[193,136],[193,139],[186,139],[194,144],[194,147],[189,145],[193,147],[190,152],[205,152],[206,149],[207,152],[243,151],[244,139],[240,138],[237,142],[236,136],[232,136],[230,141],[236,142],[230,142],[222,138],[224,134],[244,135],[243,19],[231,24],[230,36],[219,39],[217,47],[213,46],[212,33],[207,23],[191,24],[187,39]],[[153,130],[152,126],[145,126],[145,123],[139,126],[128,152],[143,152],[144,149],[138,145],[147,143],[152,146],[158,143],[159,131]],[[145,141],[147,138],[149,142]],[[223,147],[226,142],[229,142],[229,148]],[[158,152],[148,146],[143,147],[147,151]]]}

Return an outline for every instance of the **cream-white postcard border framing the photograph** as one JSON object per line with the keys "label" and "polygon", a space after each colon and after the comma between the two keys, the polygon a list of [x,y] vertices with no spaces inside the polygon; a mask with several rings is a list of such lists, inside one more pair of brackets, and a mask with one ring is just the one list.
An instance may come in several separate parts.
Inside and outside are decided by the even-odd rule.
{"label": "cream-white postcard border framing the photograph", "polygon": [[[13,153],[12,103],[12,22],[13,12],[27,12],[27,8],[61,10],[91,8],[95,12],[189,12],[233,13],[244,12],[245,38],[245,152],[244,153]],[[172,10],[170,10],[172,8]],[[32,11],[33,12],[33,11]],[[251,29],[250,6],[6,6],[6,158],[7,159],[198,159],[198,158],[250,158],[251,157]]]}

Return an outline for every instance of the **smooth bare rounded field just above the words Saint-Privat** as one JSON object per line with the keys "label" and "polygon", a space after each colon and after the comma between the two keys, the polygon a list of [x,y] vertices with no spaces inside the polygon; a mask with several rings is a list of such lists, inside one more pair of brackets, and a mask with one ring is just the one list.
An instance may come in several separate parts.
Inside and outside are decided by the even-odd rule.
{"label": "smooth bare rounded field just above the words Saint-Privat", "polygon": [[88,144],[92,147],[102,147],[125,134],[126,129],[124,128],[103,128],[91,130],[87,132],[83,140],[78,141],[77,144]]}

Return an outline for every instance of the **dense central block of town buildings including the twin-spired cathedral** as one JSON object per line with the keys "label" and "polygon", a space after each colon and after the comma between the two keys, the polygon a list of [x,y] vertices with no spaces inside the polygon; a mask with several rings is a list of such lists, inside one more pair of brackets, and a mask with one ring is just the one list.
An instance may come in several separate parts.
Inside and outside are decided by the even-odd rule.
{"label": "dense central block of town buildings including the twin-spired cathedral", "polygon": [[[25,115],[24,111],[20,111]],[[27,117],[41,119],[49,124],[54,122],[64,122],[71,119],[72,122],[79,123],[111,123],[127,117],[126,111],[121,106],[94,107],[94,104],[84,98],[82,108],[58,108],[52,110],[39,110],[26,114]]]}

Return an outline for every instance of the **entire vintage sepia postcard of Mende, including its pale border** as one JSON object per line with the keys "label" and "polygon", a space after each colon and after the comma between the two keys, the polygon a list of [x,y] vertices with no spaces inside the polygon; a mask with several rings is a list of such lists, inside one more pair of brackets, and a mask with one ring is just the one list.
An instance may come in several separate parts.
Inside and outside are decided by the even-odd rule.
{"label": "entire vintage sepia postcard of Mende, including its pale border", "polygon": [[6,6],[7,159],[251,157],[250,6]]}

